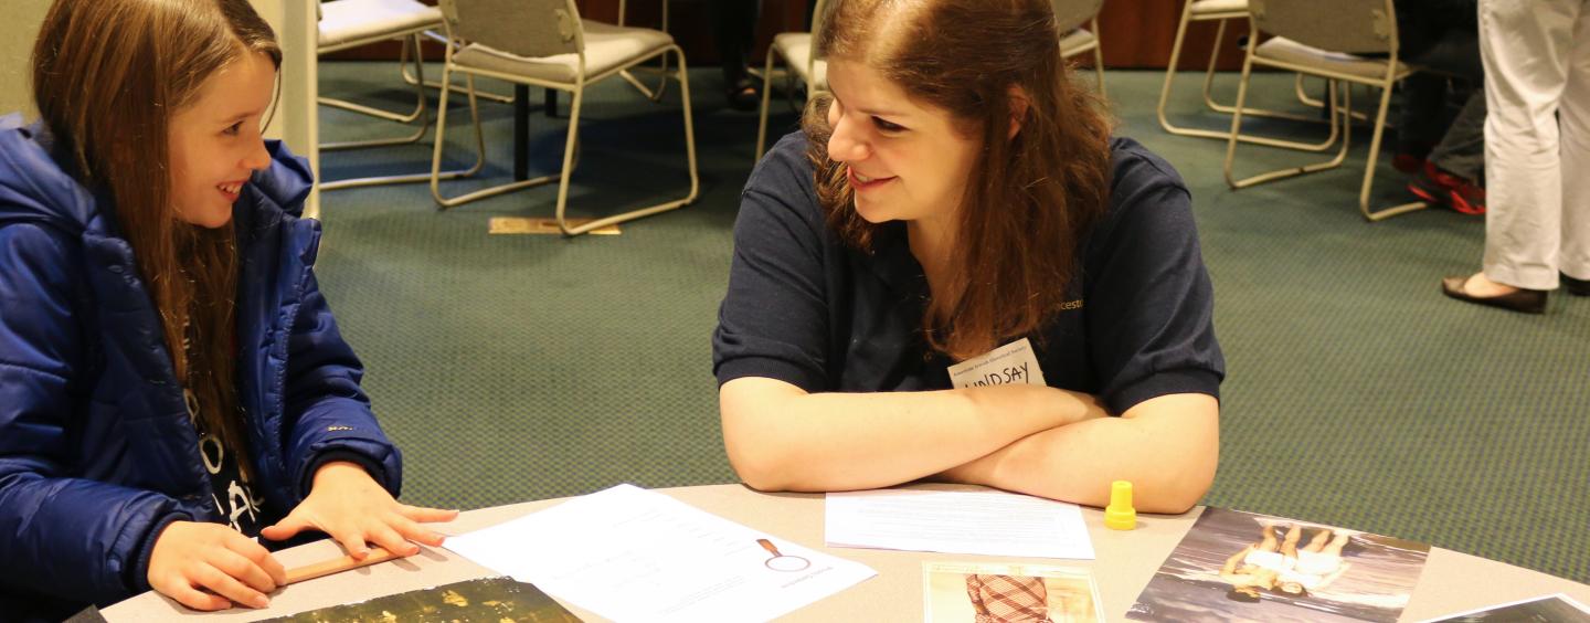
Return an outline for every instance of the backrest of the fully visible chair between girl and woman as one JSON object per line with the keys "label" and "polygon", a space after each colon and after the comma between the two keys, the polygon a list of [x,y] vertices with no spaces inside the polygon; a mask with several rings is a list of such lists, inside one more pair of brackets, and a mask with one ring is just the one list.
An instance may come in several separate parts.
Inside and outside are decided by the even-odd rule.
{"label": "backrest of the fully visible chair between girl and woman", "polygon": [[450,37],[509,54],[542,57],[585,51],[574,0],[440,0]]}

